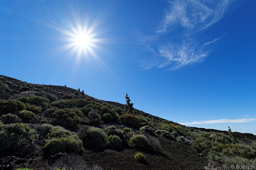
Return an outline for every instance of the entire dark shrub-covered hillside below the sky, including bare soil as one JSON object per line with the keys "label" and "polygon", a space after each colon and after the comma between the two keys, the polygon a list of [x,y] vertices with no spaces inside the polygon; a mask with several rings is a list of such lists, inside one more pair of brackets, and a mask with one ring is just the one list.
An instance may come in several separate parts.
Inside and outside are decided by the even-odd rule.
{"label": "entire dark shrub-covered hillside below the sky, including bare soil", "polygon": [[255,135],[186,127],[85,93],[0,76],[0,169],[209,170],[255,164]]}

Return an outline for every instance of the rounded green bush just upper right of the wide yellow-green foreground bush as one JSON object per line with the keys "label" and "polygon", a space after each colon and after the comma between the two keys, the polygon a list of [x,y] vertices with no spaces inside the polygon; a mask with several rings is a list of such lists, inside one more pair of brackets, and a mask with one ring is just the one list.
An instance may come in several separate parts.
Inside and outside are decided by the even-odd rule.
{"label": "rounded green bush just upper right of the wide yellow-green foreground bush", "polygon": [[106,146],[107,135],[99,128],[89,127],[87,130],[87,139],[84,144],[104,148]]}

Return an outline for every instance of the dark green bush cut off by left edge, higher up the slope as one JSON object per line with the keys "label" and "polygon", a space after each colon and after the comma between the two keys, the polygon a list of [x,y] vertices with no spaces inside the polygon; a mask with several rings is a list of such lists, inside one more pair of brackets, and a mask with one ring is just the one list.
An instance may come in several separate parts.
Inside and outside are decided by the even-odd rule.
{"label": "dark green bush cut off by left edge, higher up the slope", "polygon": [[0,115],[25,110],[26,105],[16,100],[0,100]]}

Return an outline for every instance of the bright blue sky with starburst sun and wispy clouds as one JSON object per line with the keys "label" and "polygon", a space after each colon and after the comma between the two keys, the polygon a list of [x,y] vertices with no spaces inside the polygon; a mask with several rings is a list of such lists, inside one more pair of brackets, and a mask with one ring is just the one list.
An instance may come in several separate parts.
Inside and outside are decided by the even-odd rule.
{"label": "bright blue sky with starburst sun and wispy clouds", "polygon": [[0,0],[0,74],[256,135],[256,1]]}

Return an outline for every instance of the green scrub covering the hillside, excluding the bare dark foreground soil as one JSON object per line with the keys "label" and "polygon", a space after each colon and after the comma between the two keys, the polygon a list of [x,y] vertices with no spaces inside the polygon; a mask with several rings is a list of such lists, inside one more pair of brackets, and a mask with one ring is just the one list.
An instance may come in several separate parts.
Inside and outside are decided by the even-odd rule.
{"label": "green scrub covering the hillside, excluding the bare dark foreground soil", "polygon": [[[118,107],[120,104],[86,98],[80,89],[62,86],[59,90],[18,80],[10,82],[4,77],[0,81],[0,93],[9,95],[8,99],[0,100],[0,150],[6,153],[1,154],[3,169],[21,170],[35,160],[43,163],[34,169],[100,170],[98,165],[86,165],[81,156],[84,149],[132,147],[145,153],[164,154],[159,141],[162,138],[191,145],[197,156],[205,156],[222,167],[252,166],[256,162],[255,141],[238,141],[231,129],[229,135],[206,133],[164,119],[145,117],[133,109],[127,94],[127,105]],[[12,90],[13,87],[16,88]],[[17,156],[9,156],[16,150],[23,156],[21,163],[15,162]],[[147,163],[142,153],[134,158]]]}

